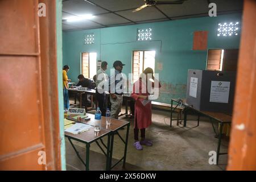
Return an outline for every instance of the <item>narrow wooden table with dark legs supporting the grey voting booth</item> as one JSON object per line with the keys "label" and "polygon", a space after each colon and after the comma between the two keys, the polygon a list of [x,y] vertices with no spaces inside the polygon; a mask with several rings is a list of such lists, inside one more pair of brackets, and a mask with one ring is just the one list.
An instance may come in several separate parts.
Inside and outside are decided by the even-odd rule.
{"label": "narrow wooden table with dark legs supporting the grey voting booth", "polygon": [[[203,110],[197,110],[193,108],[192,106],[189,106],[188,104],[185,103],[185,101],[182,100],[177,100],[177,99],[171,99],[171,108],[173,105],[173,102],[177,102],[177,105],[183,106],[184,107],[184,119],[180,118],[180,120],[184,120],[184,127],[187,126],[187,112],[189,110],[195,111],[195,113],[198,114],[197,119],[189,119],[189,120],[197,120],[197,126],[199,126],[199,121],[200,121],[200,115],[204,115],[206,117],[209,117],[210,122],[212,123],[212,127],[214,130],[214,133],[216,134],[216,137],[218,137],[218,146],[217,146],[217,165],[218,165],[218,159],[220,155],[228,154],[228,153],[221,153],[220,152],[220,147],[221,147],[221,137],[222,137],[222,128],[224,124],[229,124],[232,121],[232,115],[226,114],[226,113],[221,113],[221,112],[213,112],[213,111],[203,111]],[[171,109],[171,123],[170,127],[172,127],[172,109]],[[217,121],[218,125],[220,126],[220,129],[218,130],[218,134],[216,133],[216,130],[213,125],[213,121]]]}

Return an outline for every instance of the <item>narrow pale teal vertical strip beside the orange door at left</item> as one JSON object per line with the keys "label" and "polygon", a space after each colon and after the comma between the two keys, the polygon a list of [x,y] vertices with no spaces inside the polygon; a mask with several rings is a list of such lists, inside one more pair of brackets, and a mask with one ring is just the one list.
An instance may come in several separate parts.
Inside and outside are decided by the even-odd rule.
{"label": "narrow pale teal vertical strip beside the orange door at left", "polygon": [[61,154],[61,169],[66,170],[65,157],[65,137],[64,137],[64,101],[63,101],[63,78],[62,78],[62,1],[56,0],[56,39],[57,39],[57,79],[59,88],[59,118],[60,118],[60,154]]}

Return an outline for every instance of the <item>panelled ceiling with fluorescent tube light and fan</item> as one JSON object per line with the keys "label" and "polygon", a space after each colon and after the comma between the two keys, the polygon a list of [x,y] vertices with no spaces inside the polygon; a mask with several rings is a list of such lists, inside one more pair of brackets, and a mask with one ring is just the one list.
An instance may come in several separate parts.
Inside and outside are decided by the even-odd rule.
{"label": "panelled ceiling with fluorescent tube light and fan", "polygon": [[[208,16],[210,2],[216,3],[217,15],[242,12],[242,0],[187,0],[182,5],[157,5],[135,13],[132,11],[142,6],[144,0],[63,0],[63,30],[73,31]],[[64,20],[69,16],[84,14],[92,14],[94,17],[80,22]]]}

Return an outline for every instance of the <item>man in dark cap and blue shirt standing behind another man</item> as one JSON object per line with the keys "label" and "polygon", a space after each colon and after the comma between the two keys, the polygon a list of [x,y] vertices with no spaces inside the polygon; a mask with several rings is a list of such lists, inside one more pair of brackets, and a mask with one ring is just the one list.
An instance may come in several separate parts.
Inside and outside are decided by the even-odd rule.
{"label": "man in dark cap and blue shirt standing behind another man", "polygon": [[113,67],[115,68],[114,73],[111,72],[109,79],[110,88],[110,103],[111,103],[111,117],[118,119],[118,115],[122,107],[122,95],[123,95],[123,75],[122,69],[123,64],[121,61],[114,61]]}

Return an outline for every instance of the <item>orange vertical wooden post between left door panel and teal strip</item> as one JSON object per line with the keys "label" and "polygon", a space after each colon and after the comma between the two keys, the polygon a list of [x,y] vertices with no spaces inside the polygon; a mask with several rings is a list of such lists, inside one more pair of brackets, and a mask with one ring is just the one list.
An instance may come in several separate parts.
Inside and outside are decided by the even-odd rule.
{"label": "orange vertical wooden post between left door panel and teal strip", "polygon": [[[40,25],[40,57],[42,73],[42,96],[44,132],[46,145],[46,169],[61,170],[61,138],[60,109],[57,64],[57,34],[56,31],[56,2],[52,0],[39,0],[46,4],[46,17],[39,18]],[[62,3],[62,2],[61,2]],[[62,75],[61,75],[62,77]],[[61,79],[62,80],[62,79]],[[62,85],[62,83],[61,83]],[[61,89],[62,91],[62,89]],[[62,92],[60,92],[62,93]],[[59,98],[60,97],[60,98]],[[63,110],[63,109],[62,109]]]}

